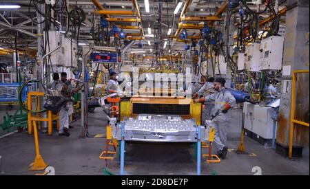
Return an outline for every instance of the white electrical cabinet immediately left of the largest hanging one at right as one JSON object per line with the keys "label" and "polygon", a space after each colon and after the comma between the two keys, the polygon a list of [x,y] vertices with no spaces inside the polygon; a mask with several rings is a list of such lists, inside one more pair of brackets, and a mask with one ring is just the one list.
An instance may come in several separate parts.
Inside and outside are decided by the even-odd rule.
{"label": "white electrical cabinet immediately left of the largest hanging one at right", "polygon": [[248,71],[260,71],[260,43],[252,43],[245,47],[245,69]]}

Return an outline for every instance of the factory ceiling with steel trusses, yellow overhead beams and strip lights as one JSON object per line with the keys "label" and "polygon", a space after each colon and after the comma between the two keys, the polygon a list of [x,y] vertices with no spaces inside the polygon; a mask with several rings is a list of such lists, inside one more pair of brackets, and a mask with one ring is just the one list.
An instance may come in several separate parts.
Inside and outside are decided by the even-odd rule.
{"label": "factory ceiling with steel trusses, yellow overhead beams and strip lights", "polygon": [[[134,39],[136,41],[131,49],[139,49],[138,45],[142,43],[147,56],[153,54],[155,27],[160,29],[161,47],[165,47],[164,49],[167,49],[167,52],[169,49],[170,53],[183,50],[185,42],[198,40],[204,22],[207,22],[208,25],[214,25],[217,30],[225,32],[225,10],[227,9],[227,1],[225,0],[156,0],[147,2],[149,2],[147,6],[149,10],[147,11],[145,0],[70,0],[67,1],[67,7],[68,12],[75,7],[79,7],[86,14],[86,19],[80,28],[81,34],[79,38],[81,43],[92,44],[94,42],[91,33],[94,16],[105,16],[108,21],[118,25],[126,32],[128,40]],[[0,0],[0,3],[12,3],[12,1]],[[14,4],[21,5],[18,11],[0,10],[1,48],[10,49],[14,37],[18,36],[17,46],[34,54],[37,49],[38,26],[37,10],[34,8],[33,3],[30,0],[18,0],[14,1]],[[248,3],[250,8],[260,8],[254,1],[248,1]],[[278,9],[284,10],[285,3],[286,1],[278,1]],[[176,9],[178,9],[177,12]],[[267,10],[260,15],[260,19],[268,19],[270,15],[271,12]],[[140,16],[141,18],[139,18]],[[58,14],[54,15],[54,17],[59,24],[55,30],[66,30],[66,14]],[[158,22],[161,22],[160,27]],[[189,36],[187,41],[180,39],[178,35],[183,29],[186,29]]]}

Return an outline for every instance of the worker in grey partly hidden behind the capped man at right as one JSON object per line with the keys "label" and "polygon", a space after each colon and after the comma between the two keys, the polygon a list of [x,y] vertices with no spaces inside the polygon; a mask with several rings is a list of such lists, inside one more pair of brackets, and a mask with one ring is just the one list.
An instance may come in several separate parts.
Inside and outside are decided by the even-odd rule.
{"label": "worker in grey partly hidden behind the capped man at right", "polygon": [[[209,77],[207,79],[207,82],[205,82],[205,85],[197,91],[197,93],[194,93],[193,98],[198,98],[200,96],[209,96],[215,92],[214,90],[214,78]],[[214,102],[206,102],[205,103],[205,108],[203,109],[203,115],[202,115],[202,120],[201,122],[204,123],[205,120],[211,120],[211,112],[212,109],[214,109]]]}

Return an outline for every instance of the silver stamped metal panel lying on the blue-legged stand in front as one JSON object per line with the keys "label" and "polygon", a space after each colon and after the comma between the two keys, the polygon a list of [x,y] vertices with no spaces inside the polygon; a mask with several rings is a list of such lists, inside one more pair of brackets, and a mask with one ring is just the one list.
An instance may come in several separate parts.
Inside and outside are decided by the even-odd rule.
{"label": "silver stamped metal panel lying on the blue-legged stand in front", "polygon": [[[205,131],[201,133],[204,135]],[[116,136],[121,140],[120,127],[117,128]],[[183,119],[179,115],[140,114],[136,118],[125,120],[125,140],[197,142],[197,124],[194,119]]]}

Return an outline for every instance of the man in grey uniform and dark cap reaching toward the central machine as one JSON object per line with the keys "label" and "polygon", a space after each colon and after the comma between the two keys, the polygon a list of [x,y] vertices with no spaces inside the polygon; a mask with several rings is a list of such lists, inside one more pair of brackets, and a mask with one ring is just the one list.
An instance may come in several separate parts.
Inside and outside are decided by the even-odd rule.
{"label": "man in grey uniform and dark cap reaching toward the central machine", "polygon": [[195,102],[215,102],[212,115],[216,115],[217,112],[219,114],[214,120],[212,120],[211,126],[216,130],[214,143],[216,148],[218,148],[218,156],[222,159],[225,159],[228,150],[227,129],[230,120],[228,110],[231,109],[231,107],[234,107],[234,104],[236,103],[234,96],[225,89],[225,82],[226,80],[224,78],[216,78],[214,81],[214,89],[216,92],[204,98],[195,100]]}

